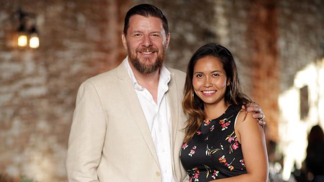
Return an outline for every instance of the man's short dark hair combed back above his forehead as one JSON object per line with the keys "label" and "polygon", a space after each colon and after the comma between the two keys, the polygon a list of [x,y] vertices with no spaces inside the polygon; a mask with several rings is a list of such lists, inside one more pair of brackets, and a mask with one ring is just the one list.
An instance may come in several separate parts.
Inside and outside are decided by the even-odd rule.
{"label": "man's short dark hair combed back above his forehead", "polygon": [[129,27],[130,18],[136,14],[146,16],[146,17],[152,16],[152,17],[160,18],[162,20],[162,26],[165,31],[165,35],[167,35],[169,33],[168,26],[167,26],[167,19],[164,16],[164,14],[162,13],[161,9],[159,9],[156,6],[151,5],[151,4],[139,4],[139,5],[132,7],[126,13],[125,21],[124,21],[124,34],[125,35],[127,35],[127,29]]}

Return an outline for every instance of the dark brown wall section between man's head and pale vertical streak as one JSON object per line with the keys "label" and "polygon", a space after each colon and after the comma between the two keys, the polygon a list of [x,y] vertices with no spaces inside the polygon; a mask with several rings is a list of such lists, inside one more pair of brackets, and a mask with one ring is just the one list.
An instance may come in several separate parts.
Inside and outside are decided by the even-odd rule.
{"label": "dark brown wall section between man's head and pale vertical streak", "polygon": [[216,41],[212,0],[134,1],[135,4],[145,2],[156,5],[167,17],[171,41],[165,63],[169,67],[185,71],[195,50],[207,42]]}

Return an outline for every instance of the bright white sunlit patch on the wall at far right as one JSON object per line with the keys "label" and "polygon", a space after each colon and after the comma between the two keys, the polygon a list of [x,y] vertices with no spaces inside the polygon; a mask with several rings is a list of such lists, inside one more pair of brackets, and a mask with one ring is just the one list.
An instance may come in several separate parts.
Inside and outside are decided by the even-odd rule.
{"label": "bright white sunlit patch on the wall at far right", "polygon": [[[301,100],[300,89],[308,87],[308,100]],[[309,111],[301,118],[301,101],[308,102]],[[288,181],[294,165],[301,169],[306,157],[307,136],[316,124],[324,126],[324,59],[307,65],[296,73],[294,85],[279,96],[280,150],[284,156],[283,180]]]}

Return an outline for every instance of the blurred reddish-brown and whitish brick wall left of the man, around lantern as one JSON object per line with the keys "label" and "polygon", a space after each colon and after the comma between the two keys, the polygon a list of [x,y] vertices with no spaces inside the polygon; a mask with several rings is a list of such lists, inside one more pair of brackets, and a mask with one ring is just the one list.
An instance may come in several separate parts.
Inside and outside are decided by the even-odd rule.
{"label": "blurred reddish-brown and whitish brick wall left of the man, around lantern", "polygon": [[[127,0],[0,2],[0,175],[66,180],[65,157],[77,89],[116,67]],[[10,47],[15,11],[35,13],[40,47]]]}

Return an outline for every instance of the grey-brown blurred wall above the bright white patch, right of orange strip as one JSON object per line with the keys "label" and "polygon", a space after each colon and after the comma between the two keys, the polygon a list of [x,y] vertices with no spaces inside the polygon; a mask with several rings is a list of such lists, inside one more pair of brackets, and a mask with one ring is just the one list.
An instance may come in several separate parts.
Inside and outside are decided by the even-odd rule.
{"label": "grey-brown blurred wall above the bright white patch, right of orange strip", "polygon": [[279,0],[281,91],[294,85],[296,70],[324,56],[324,1]]}

